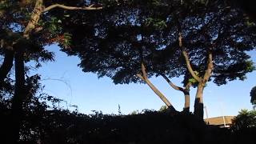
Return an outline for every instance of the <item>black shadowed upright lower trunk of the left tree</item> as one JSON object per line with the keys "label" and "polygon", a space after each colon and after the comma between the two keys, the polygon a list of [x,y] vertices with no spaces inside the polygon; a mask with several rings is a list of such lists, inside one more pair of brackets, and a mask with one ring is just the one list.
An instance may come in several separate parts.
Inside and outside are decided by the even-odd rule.
{"label": "black shadowed upright lower trunk of the left tree", "polygon": [[26,98],[25,90],[25,67],[22,48],[15,53],[15,90],[11,105],[11,142],[16,143],[19,139],[19,131],[22,126],[22,104]]}

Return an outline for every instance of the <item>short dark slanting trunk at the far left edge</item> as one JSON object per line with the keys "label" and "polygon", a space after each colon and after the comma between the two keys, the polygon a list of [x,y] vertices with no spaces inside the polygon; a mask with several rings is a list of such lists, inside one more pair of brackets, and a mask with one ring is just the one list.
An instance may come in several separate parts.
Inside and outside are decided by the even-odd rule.
{"label": "short dark slanting trunk at the far left edge", "polygon": [[0,67],[0,90],[2,89],[3,82],[7,77],[7,74],[10,72],[10,69],[13,67],[14,62],[14,51],[5,50],[5,58]]}

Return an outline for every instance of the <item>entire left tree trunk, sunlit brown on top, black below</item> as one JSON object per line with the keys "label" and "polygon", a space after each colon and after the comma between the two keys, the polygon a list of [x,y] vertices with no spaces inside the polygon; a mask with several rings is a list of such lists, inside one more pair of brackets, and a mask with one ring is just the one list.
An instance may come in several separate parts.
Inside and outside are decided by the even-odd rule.
{"label": "entire left tree trunk, sunlit brown on top, black below", "polygon": [[[30,32],[34,30],[35,26],[38,24],[40,15],[42,14],[42,9],[43,1],[37,0],[34,6],[33,13],[30,16],[30,21],[26,25],[26,28],[22,35],[25,40],[28,40],[30,38]],[[15,88],[11,106],[11,131],[9,143],[17,143],[19,140],[19,131],[22,126],[22,104],[26,99],[24,50],[22,40],[19,40],[15,44],[14,50]]]}

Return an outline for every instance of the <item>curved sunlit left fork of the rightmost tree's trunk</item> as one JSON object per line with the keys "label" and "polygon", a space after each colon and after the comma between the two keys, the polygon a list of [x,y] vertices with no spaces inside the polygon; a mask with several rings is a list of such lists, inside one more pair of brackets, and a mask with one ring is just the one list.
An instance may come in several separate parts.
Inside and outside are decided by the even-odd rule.
{"label": "curved sunlit left fork of the rightmost tree's trunk", "polygon": [[201,78],[199,78],[196,74],[194,74],[194,70],[192,69],[191,65],[190,65],[190,58],[188,56],[188,54],[186,53],[186,50],[184,50],[183,46],[182,46],[182,34],[179,33],[178,34],[178,44],[180,46],[180,48],[182,49],[182,54],[185,58],[186,61],[186,67],[189,70],[190,74],[192,75],[192,77],[197,80],[198,82],[201,81]]}

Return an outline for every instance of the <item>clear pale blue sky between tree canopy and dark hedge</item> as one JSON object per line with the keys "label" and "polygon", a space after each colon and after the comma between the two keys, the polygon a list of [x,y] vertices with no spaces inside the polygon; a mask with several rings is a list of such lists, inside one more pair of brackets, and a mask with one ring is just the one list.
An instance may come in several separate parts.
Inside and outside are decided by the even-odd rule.
{"label": "clear pale blue sky between tree canopy and dark hedge", "polygon": [[[48,46],[46,49],[55,52],[55,62],[46,62],[32,73],[42,75],[46,93],[66,100],[68,105],[77,105],[79,112],[91,114],[91,110],[102,110],[103,114],[118,114],[120,105],[122,114],[129,114],[134,110],[159,110],[164,105],[146,84],[114,85],[110,78],[98,79],[96,74],[82,72],[77,66],[79,58],[67,57],[65,53],[59,51],[58,46]],[[255,51],[250,54],[256,62]],[[171,80],[182,86],[181,79]],[[182,110],[184,97],[181,92],[173,90],[161,77],[150,80],[166,95],[176,110]],[[253,86],[256,86],[255,71],[247,74],[247,79],[243,82],[237,80],[224,86],[216,86],[209,82],[203,98],[209,117],[222,114],[237,115],[241,109],[252,110],[250,90]],[[195,91],[193,88],[190,92],[190,111],[194,110]]]}

